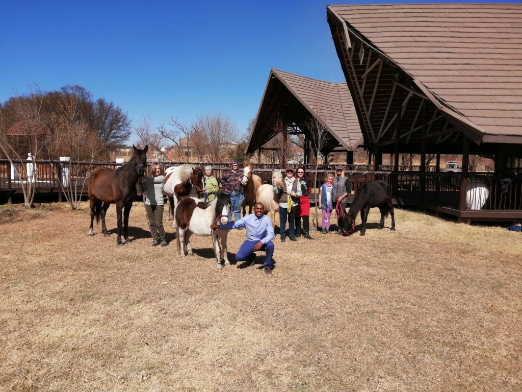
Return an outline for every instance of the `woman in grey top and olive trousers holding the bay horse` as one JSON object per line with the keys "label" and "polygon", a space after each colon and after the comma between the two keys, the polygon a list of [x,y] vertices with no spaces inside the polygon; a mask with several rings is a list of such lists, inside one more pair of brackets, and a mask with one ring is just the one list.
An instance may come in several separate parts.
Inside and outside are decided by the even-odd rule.
{"label": "woman in grey top and olive trousers holding the bay horse", "polygon": [[[143,176],[147,186],[147,198],[145,199],[145,211],[152,235],[152,246],[167,246],[165,229],[163,228],[163,186],[165,176],[161,174],[161,166],[152,166],[152,177]],[[159,235],[158,235],[159,233]]]}

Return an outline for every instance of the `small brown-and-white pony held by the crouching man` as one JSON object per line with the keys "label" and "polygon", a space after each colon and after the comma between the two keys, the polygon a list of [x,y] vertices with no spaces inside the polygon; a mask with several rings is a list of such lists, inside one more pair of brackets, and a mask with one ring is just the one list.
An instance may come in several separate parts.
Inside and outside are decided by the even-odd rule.
{"label": "small brown-and-white pony held by the crouching man", "polygon": [[197,198],[184,198],[176,206],[175,221],[177,223],[177,249],[180,256],[193,255],[190,243],[192,234],[208,237],[212,236],[216,268],[221,268],[221,261],[230,264],[227,257],[227,236],[229,230],[212,230],[210,225],[221,221],[228,222],[230,211],[230,194],[218,192],[216,199],[204,202]]}

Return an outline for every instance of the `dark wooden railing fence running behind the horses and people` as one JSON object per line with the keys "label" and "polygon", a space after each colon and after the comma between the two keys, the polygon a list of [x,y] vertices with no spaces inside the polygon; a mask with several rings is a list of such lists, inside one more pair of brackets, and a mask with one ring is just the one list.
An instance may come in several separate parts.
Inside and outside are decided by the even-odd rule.
{"label": "dark wooden railing fence running behind the horses and people", "polygon": [[[185,162],[163,163],[164,166],[180,165]],[[198,163],[199,164],[199,163]],[[92,171],[99,167],[115,169],[121,164],[115,162],[60,162],[58,160],[37,160],[31,170],[27,162],[14,163],[0,159],[0,192],[4,195],[21,190],[22,184],[32,181],[38,193],[58,193],[62,186],[80,186],[86,181],[84,194],[87,194],[87,182]],[[214,176],[220,178],[229,169],[229,163],[213,164]],[[297,165],[294,166],[294,169]],[[336,165],[306,165],[306,178],[314,191],[321,186],[324,176],[334,172]],[[372,165],[343,165],[345,174],[350,178],[353,193],[364,183],[377,179],[387,181],[392,186],[392,193],[398,203],[408,205],[433,205],[459,209],[462,199],[461,183],[466,183],[466,205],[461,210],[522,210],[522,180],[518,175],[495,176],[472,173],[464,178],[459,172],[419,172],[418,165],[402,167],[405,170],[391,171],[393,166],[382,165],[379,171],[372,171]],[[28,172],[29,169],[29,172]],[[254,173],[262,178],[263,183],[270,183],[272,170],[281,170],[279,164],[253,164]],[[433,170],[433,166],[426,166]],[[32,171],[32,173],[31,173]],[[281,170],[283,171],[283,170]],[[315,173],[317,172],[317,181]],[[146,168],[149,174],[149,168]]]}

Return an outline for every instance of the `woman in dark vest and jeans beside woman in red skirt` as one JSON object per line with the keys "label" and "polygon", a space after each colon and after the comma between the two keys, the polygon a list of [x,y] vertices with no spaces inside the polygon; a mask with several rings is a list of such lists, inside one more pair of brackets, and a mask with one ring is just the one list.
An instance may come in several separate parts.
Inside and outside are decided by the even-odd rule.
{"label": "woman in dark vest and jeans beside woman in red skirt", "polygon": [[274,186],[274,192],[283,193],[279,199],[279,230],[282,243],[286,240],[287,218],[288,237],[291,241],[297,241],[294,226],[295,211],[297,211],[297,202],[302,194],[301,187],[298,187],[299,181],[293,176],[293,167],[289,166],[285,171],[286,177],[283,180],[283,189]]}

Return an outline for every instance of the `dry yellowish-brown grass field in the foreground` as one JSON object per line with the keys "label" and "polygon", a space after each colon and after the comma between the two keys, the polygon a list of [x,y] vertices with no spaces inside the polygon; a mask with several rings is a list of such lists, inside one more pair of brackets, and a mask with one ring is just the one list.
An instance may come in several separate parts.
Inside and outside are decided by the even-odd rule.
{"label": "dry yellowish-brown grass field in the foreground", "polygon": [[87,237],[82,207],[0,206],[2,391],[522,390],[521,233],[375,209],[364,237],[276,237],[265,275],[152,248],[138,203],[131,244],[114,206]]}

